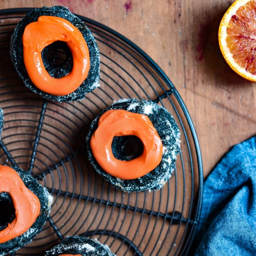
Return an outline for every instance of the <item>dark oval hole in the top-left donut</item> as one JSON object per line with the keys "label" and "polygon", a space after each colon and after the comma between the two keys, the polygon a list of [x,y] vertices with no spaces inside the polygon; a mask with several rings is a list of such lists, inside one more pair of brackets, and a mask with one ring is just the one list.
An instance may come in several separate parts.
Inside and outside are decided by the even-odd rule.
{"label": "dark oval hole in the top-left donut", "polygon": [[54,78],[69,74],[73,68],[72,52],[66,42],[51,43],[42,50],[41,56],[45,69]]}

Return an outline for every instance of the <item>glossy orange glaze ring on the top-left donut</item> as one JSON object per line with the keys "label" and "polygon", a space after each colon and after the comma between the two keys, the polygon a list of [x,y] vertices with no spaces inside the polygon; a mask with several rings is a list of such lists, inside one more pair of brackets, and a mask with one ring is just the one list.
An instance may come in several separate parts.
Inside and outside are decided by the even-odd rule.
{"label": "glossy orange glaze ring on the top-left donut", "polygon": [[[64,77],[53,78],[44,67],[41,51],[54,41],[64,41],[73,55],[73,69]],[[40,16],[29,23],[22,36],[23,59],[27,74],[40,90],[53,95],[74,92],[87,78],[90,56],[82,33],[60,17]]]}

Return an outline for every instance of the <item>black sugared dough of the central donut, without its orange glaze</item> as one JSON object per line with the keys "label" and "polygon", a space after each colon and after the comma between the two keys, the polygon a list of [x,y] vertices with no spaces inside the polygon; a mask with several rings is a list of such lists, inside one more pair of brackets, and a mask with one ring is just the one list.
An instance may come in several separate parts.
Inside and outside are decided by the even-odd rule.
{"label": "black sugared dough of the central donut, without its orange glaze", "polygon": [[[92,135],[94,134],[94,131],[98,128],[98,121],[101,115],[110,109],[124,109],[133,113],[147,115],[162,140],[163,155],[160,164],[154,170],[138,179],[121,180],[112,175],[109,175],[101,168],[101,166],[94,158],[92,149],[90,147],[90,141]],[[123,152],[124,144],[127,143],[128,137],[134,136],[114,137],[114,140],[112,142],[112,152],[115,158],[127,161],[134,159],[142,154],[142,142],[137,143],[137,150],[135,154],[127,156],[127,154]],[[133,141],[135,141],[134,138]],[[97,115],[94,121],[91,123],[86,138],[88,158],[94,169],[113,186],[127,192],[161,189],[164,183],[168,181],[173,172],[176,155],[178,155],[180,152],[180,142],[181,141],[179,127],[175,122],[173,116],[165,108],[162,108],[161,106],[155,104],[152,101],[137,101],[127,99],[116,101],[110,107],[103,110],[99,115]],[[120,172],[121,171],[122,170],[120,170]]]}

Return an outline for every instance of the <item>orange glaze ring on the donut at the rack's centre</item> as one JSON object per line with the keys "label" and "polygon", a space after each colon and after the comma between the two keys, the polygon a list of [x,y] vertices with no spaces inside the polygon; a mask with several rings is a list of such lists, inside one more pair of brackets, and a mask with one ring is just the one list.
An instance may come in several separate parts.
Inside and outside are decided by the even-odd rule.
{"label": "orange glaze ring on the donut at the rack's centre", "polygon": [[[111,144],[114,136],[134,135],[144,145],[141,156],[121,161],[114,157]],[[159,165],[162,159],[162,141],[148,116],[126,110],[108,110],[98,123],[90,145],[101,168],[123,180],[137,179]]]}

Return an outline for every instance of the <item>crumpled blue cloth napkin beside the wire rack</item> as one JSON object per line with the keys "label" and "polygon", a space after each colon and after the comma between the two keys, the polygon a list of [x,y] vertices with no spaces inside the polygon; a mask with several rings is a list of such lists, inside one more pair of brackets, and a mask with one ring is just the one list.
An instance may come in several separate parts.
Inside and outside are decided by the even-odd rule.
{"label": "crumpled blue cloth napkin beside the wire rack", "polygon": [[231,148],[205,181],[197,241],[196,256],[256,256],[256,136]]}

